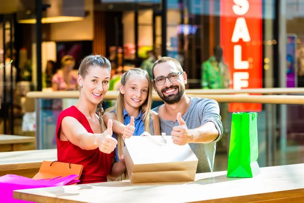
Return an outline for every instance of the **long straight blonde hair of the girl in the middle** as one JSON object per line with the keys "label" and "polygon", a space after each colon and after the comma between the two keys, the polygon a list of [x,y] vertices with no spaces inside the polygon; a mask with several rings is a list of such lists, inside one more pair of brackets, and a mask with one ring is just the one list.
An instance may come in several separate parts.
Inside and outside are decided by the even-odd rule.
{"label": "long straight blonde hair of the girl in the middle", "polygon": [[[151,128],[150,128],[150,119],[151,119],[151,115],[150,115],[150,109],[151,109],[151,105],[152,105],[152,82],[151,79],[149,77],[148,72],[146,72],[145,70],[141,70],[138,68],[134,68],[134,69],[130,69],[127,72],[125,72],[122,76],[121,76],[121,85],[125,86],[127,81],[129,80],[130,76],[133,74],[138,74],[138,75],[142,75],[145,76],[145,78],[147,79],[149,86],[148,86],[148,95],[146,100],[144,101],[144,103],[141,105],[141,113],[142,113],[142,120],[143,120],[143,124],[144,124],[144,130],[151,133]],[[112,112],[114,110],[116,110],[116,118],[119,122],[125,124],[124,122],[124,95],[119,92],[118,98],[117,98],[117,103],[115,106],[108,108],[106,110],[106,112]],[[117,136],[117,142],[118,142],[118,156],[119,158],[121,158],[122,154],[123,154],[123,147],[124,145],[124,140],[123,140],[123,136],[122,134],[118,134]]]}

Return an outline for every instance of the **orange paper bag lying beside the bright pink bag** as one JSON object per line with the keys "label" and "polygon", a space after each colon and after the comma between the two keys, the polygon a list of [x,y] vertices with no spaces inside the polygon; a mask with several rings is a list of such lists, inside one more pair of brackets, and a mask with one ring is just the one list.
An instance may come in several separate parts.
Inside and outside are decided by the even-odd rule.
{"label": "orange paper bag lying beside the bright pink bag", "polygon": [[59,161],[43,161],[39,172],[32,178],[33,180],[51,179],[58,176],[66,177],[69,175],[78,175],[79,180],[83,165],[73,163],[63,163]]}

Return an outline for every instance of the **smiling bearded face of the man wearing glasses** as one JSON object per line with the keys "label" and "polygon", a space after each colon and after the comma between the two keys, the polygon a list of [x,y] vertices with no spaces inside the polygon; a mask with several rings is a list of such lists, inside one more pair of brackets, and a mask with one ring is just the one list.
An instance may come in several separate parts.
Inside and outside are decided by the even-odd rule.
{"label": "smiling bearded face of the man wearing glasses", "polygon": [[[168,77],[171,73],[178,73],[176,64],[173,61],[167,61],[157,64],[154,67],[154,77],[157,79],[160,76]],[[165,79],[165,83],[158,85],[155,82],[154,88],[158,95],[167,104],[175,104],[180,101],[185,91],[185,84],[187,83],[187,77],[185,73],[178,76],[175,81],[170,81],[168,78]]]}

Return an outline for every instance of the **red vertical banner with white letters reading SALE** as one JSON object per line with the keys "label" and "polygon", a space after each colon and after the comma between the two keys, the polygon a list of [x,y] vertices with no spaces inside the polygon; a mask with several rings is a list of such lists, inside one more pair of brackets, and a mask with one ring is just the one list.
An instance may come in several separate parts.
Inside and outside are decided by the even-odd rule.
{"label": "red vertical banner with white letters reading SALE", "polygon": [[[220,16],[220,44],[231,88],[262,88],[262,0],[221,0]],[[261,104],[229,106],[230,112],[261,109]]]}

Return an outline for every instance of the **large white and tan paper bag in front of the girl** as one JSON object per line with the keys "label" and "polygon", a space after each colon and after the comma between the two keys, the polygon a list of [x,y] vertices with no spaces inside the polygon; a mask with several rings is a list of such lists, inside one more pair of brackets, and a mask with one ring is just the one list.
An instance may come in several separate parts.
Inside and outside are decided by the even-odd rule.
{"label": "large white and tan paper bag in front of the girl", "polygon": [[194,181],[198,158],[171,136],[132,136],[123,149],[131,183]]}

